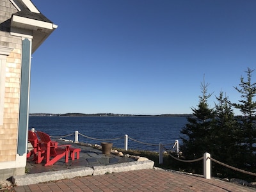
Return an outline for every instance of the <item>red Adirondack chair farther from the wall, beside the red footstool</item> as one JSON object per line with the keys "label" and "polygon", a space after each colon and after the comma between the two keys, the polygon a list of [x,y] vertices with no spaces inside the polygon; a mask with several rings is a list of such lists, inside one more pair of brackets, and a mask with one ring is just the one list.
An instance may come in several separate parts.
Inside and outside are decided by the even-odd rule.
{"label": "red Adirondack chair farther from the wall, beside the red footstool", "polygon": [[39,146],[46,147],[46,152],[44,153],[46,163],[44,166],[52,165],[64,156],[65,163],[68,163],[70,145],[56,145],[56,141],[52,141],[49,134],[41,131],[36,133],[40,137]]}

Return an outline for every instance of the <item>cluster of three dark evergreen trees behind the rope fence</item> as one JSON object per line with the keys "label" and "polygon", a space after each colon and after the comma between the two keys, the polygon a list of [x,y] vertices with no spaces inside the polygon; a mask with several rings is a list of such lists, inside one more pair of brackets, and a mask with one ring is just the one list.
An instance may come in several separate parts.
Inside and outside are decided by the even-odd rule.
{"label": "cluster of three dark evergreen trees behind the rope fence", "polygon": [[[209,84],[201,83],[202,95],[193,116],[180,131],[182,158],[196,159],[209,152],[211,157],[228,165],[256,173],[256,83],[252,83],[254,70],[247,68],[246,79],[241,77],[239,86],[234,87],[241,94],[237,103],[230,102],[223,91],[216,97],[214,108],[207,100]],[[242,115],[236,116],[234,109]],[[186,167],[190,172],[202,173],[202,162],[191,163]],[[251,179],[244,173],[230,170],[212,162],[212,174],[218,177]]]}

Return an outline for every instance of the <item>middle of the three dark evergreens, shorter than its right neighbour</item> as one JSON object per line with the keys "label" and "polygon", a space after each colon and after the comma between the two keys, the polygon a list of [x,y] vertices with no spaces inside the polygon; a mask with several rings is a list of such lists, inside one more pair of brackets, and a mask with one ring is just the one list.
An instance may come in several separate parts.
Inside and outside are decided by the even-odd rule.
{"label": "middle of the three dark evergreens, shorter than its right neighbour", "polygon": [[[212,151],[211,157],[235,167],[241,167],[244,156],[244,148],[241,148],[239,129],[232,109],[232,103],[228,97],[220,92],[218,101],[215,104],[215,118],[212,121]],[[212,165],[213,166],[213,165]],[[233,175],[233,171],[219,164],[214,164],[212,169],[215,175],[228,177]]]}

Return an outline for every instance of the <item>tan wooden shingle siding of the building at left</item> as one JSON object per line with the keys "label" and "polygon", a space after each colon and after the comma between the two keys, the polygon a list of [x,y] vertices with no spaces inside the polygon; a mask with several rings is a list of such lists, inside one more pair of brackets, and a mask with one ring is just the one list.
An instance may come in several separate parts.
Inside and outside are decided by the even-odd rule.
{"label": "tan wooden shingle siding of the building at left", "polygon": [[[0,162],[15,161],[19,122],[21,38],[10,35],[10,18],[17,12],[9,0],[0,1],[0,46],[13,51],[6,58],[4,116],[0,125]],[[2,99],[2,98],[1,98]]]}

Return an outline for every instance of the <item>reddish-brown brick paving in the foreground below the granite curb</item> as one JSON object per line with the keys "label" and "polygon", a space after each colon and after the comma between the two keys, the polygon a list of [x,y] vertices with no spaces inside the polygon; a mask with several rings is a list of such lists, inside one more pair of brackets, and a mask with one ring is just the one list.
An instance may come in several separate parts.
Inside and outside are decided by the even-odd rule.
{"label": "reddish-brown brick paving in the foreground below the granite curb", "polygon": [[164,170],[135,170],[106,175],[77,177],[29,186],[17,186],[15,191],[256,191],[218,179]]}

